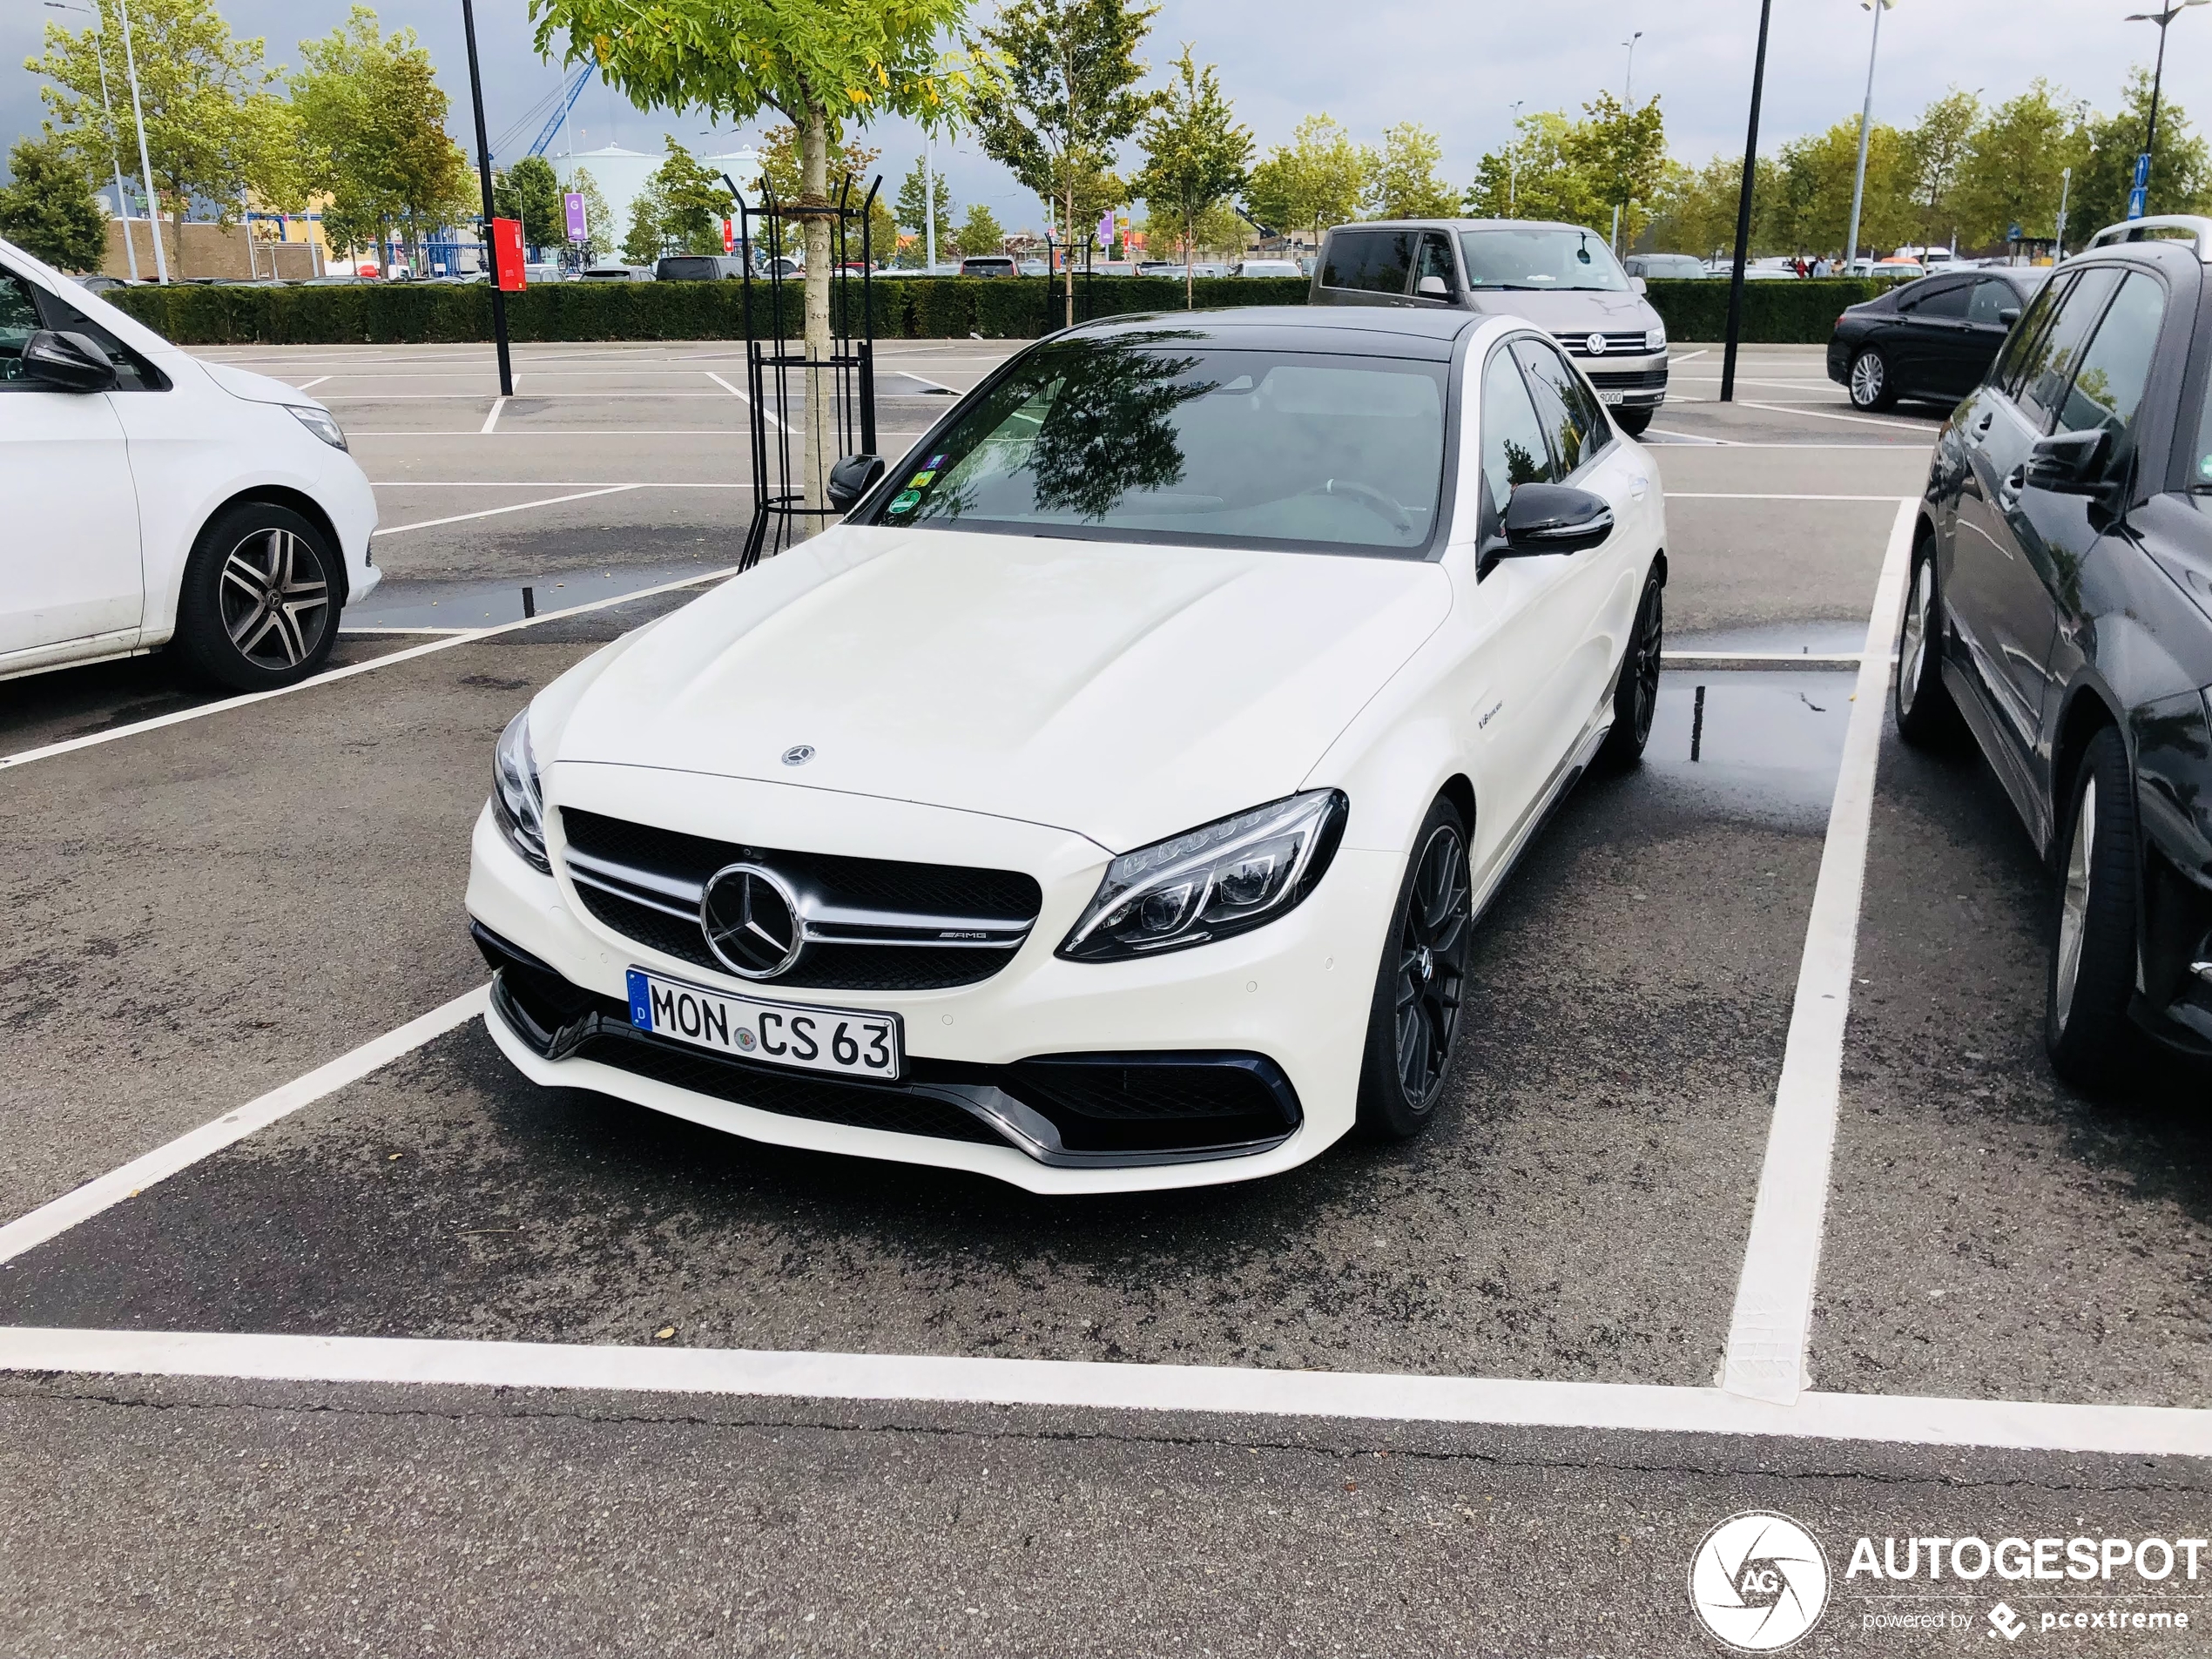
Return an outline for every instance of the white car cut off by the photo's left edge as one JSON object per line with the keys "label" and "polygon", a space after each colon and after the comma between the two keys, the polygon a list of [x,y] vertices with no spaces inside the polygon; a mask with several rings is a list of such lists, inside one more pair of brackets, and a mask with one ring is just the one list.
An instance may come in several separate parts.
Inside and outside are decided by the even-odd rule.
{"label": "white car cut off by the photo's left edge", "polygon": [[237,690],[323,666],[376,498],[314,398],[201,363],[0,241],[0,679],[168,644]]}

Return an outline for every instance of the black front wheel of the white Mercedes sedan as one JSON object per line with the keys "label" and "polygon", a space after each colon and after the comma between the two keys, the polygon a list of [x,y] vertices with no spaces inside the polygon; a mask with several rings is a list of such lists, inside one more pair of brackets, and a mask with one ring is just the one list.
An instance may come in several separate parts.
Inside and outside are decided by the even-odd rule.
{"label": "black front wheel of the white Mercedes sedan", "polygon": [[1358,1126],[1371,1139],[1411,1139],[1436,1117],[1460,1035],[1471,936],[1467,825],[1438,799],[1413,836],[1367,1015]]}

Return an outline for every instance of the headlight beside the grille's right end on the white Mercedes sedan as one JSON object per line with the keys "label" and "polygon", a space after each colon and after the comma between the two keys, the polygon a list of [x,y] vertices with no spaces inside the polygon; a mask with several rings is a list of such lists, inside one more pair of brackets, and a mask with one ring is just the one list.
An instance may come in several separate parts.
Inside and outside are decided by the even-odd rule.
{"label": "headlight beside the grille's right end on the white Mercedes sedan", "polygon": [[1314,891],[1347,810],[1343,790],[1307,790],[1121,854],[1060,956],[1126,960],[1272,922]]}

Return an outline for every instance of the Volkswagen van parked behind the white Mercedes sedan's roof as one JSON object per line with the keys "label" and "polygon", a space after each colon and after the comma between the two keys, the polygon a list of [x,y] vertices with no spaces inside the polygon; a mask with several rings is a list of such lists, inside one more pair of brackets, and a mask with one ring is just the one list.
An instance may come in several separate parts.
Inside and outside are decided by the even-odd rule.
{"label": "Volkswagen van parked behind the white Mercedes sedan's roof", "polygon": [[1644,279],[1584,226],[1537,219],[1394,219],[1336,226],[1312,305],[1411,305],[1524,316],[1546,330],[1630,438],[1666,403],[1666,323]]}

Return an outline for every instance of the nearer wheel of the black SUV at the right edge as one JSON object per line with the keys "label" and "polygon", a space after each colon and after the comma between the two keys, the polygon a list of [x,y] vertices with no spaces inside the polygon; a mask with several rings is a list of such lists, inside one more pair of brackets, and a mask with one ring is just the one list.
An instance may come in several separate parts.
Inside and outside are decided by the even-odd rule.
{"label": "nearer wheel of the black SUV at the right edge", "polygon": [[2106,726],[2066,794],[2051,927],[2044,1048],[2081,1091],[2108,1088],[2135,1057],[2137,841],[2128,748]]}

